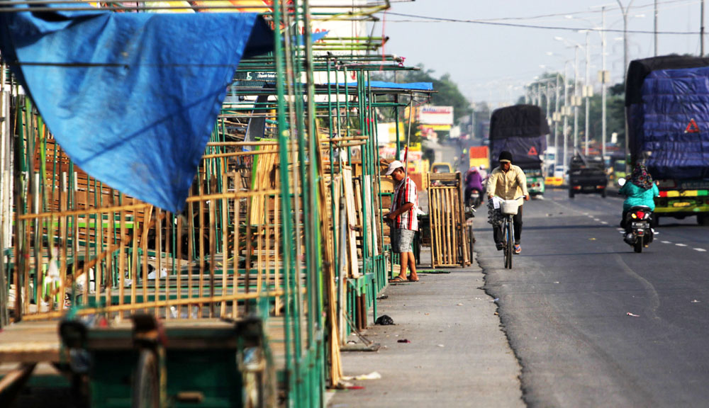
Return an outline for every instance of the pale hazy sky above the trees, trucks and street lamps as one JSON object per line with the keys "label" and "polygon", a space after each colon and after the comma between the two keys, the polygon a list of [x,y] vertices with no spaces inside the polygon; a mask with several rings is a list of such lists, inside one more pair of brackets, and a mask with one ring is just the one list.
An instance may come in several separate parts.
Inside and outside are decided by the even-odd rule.
{"label": "pale hazy sky above the trees, trucks and street lamps", "polygon": [[[621,2],[626,7],[630,0]],[[382,22],[377,23],[374,30],[379,35],[384,29],[385,35],[389,36],[386,53],[406,57],[407,65],[422,63],[433,69],[435,76],[450,73],[467,98],[489,101],[491,107],[496,108],[498,103],[515,102],[523,95],[522,87],[545,71],[563,72],[566,60],[571,60],[568,72],[569,77],[573,77],[573,44],[585,45],[586,33],[577,31],[584,28],[598,30],[588,34],[591,83],[598,91],[600,6],[604,5],[605,28],[608,30],[605,35],[606,69],[615,84],[623,79],[623,13],[618,1],[391,0],[391,8],[386,16],[379,14]],[[658,55],[699,54],[700,5],[700,0],[657,0]],[[654,0],[633,0],[627,16],[629,31],[649,31],[629,33],[628,61],[652,57]],[[432,21],[431,18],[547,28]],[[564,40],[557,39],[559,37]],[[708,41],[705,35],[705,53],[709,54]],[[585,70],[585,51],[579,48],[580,78],[585,77]]]}

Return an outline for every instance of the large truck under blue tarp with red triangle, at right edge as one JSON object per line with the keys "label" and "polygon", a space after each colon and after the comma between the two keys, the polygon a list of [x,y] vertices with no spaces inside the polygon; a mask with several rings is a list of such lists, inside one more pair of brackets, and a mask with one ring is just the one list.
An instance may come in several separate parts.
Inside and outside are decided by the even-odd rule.
{"label": "large truck under blue tarp with red triangle, at right edge", "polygon": [[658,182],[654,220],[696,215],[709,225],[709,58],[630,62],[625,115],[630,160]]}

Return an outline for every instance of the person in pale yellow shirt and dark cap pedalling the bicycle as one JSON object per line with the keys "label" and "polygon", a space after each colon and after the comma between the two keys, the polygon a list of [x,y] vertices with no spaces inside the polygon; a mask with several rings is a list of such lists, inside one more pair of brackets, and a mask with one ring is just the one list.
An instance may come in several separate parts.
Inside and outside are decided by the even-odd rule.
{"label": "person in pale yellow shirt and dark cap pedalling the bicycle", "polygon": [[[515,198],[524,196],[525,200],[530,199],[530,194],[527,192],[527,177],[524,171],[519,166],[512,164],[512,153],[503,151],[498,159],[500,166],[492,171],[487,181],[488,195],[488,215],[493,226],[493,238],[498,251],[504,247],[502,243],[503,217],[499,208],[495,208],[493,197],[503,198],[504,200],[514,200]],[[522,238],[522,204],[520,203],[517,215],[513,216],[513,225],[515,229],[515,254],[522,251],[520,240]]]}

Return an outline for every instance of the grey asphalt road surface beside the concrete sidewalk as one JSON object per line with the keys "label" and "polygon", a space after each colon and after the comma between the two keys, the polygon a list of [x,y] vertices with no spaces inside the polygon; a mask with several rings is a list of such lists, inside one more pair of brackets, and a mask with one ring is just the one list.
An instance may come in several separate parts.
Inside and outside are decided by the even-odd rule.
{"label": "grey asphalt road surface beside the concrete sidewalk", "polygon": [[619,197],[566,191],[525,203],[512,270],[479,211],[485,289],[499,298],[530,407],[709,405],[709,227],[663,218],[635,254],[621,210]]}

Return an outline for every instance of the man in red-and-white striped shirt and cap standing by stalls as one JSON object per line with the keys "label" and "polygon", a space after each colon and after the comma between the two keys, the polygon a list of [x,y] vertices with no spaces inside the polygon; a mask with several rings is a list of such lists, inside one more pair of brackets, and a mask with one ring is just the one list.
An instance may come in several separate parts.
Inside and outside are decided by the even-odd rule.
{"label": "man in red-and-white striped shirt and cap standing by stalls", "polygon": [[394,181],[394,196],[391,200],[391,212],[385,215],[391,226],[391,250],[401,256],[401,270],[398,276],[389,282],[406,281],[406,268],[411,269],[408,280],[418,282],[416,275],[416,260],[413,257],[411,243],[418,231],[418,191],[416,184],[406,176],[403,163],[394,160],[386,169],[386,175]]}

